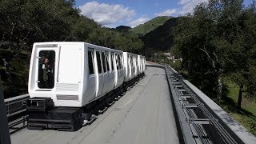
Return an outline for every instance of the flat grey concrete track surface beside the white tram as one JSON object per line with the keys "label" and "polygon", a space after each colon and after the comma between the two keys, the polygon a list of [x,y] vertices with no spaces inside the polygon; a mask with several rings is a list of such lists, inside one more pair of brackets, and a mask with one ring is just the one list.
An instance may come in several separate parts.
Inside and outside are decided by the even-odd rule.
{"label": "flat grey concrete track surface beside the white tram", "polygon": [[13,144],[41,143],[178,143],[165,70],[147,67],[143,78],[91,125],[75,132],[23,129],[11,134]]}

